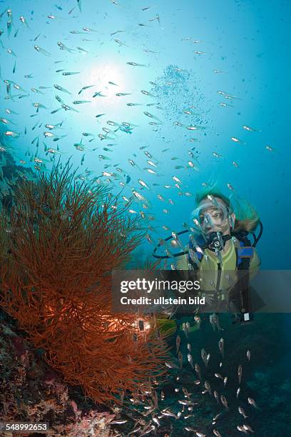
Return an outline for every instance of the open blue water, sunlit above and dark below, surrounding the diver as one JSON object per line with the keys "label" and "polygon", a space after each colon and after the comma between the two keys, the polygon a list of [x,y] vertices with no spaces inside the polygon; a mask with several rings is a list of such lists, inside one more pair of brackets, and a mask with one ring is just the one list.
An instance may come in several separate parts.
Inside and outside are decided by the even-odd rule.
{"label": "open blue water, sunlit above and dark below, surrounding the diver", "polygon": [[[288,270],[290,12],[290,1],[275,0],[0,1],[0,153],[48,172],[53,156],[71,157],[80,181],[105,184],[121,206],[132,199],[130,214],[148,228],[141,264],[154,261],[159,238],[188,228],[195,194],[215,186],[259,214],[261,269]],[[250,326],[224,314],[220,325],[213,331],[205,316],[190,339],[180,333],[181,350],[192,344],[230,410],[201,393],[185,360],[182,385],[171,369],[163,402],[177,413],[184,386],[199,406],[188,419],[158,419],[150,435],[240,436],[247,423],[256,436],[289,436],[290,314],[260,314]]]}

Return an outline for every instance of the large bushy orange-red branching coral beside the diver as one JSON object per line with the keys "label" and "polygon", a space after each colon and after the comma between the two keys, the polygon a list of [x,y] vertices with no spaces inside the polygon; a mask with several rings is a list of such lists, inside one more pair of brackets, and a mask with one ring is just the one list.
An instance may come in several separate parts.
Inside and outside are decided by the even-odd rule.
{"label": "large bushy orange-red branching coral beside the diver", "polygon": [[96,403],[121,402],[165,373],[168,346],[148,317],[140,331],[136,314],[111,309],[111,271],[140,242],[138,221],[74,176],[55,164],[17,187],[1,217],[0,304],[66,382]]}

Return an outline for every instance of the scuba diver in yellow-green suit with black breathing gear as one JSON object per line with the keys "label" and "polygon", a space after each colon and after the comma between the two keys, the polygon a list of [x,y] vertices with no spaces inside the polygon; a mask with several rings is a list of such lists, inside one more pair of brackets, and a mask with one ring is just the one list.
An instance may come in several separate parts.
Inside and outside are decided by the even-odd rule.
{"label": "scuba diver in yellow-green suit with black breathing gear", "polygon": [[[194,275],[199,279],[199,296],[205,298],[206,311],[211,312],[211,308],[213,313],[215,309],[230,311],[233,323],[250,322],[253,316],[249,281],[260,268],[255,246],[262,235],[262,223],[251,206],[248,206],[247,214],[241,214],[239,206],[240,217],[235,216],[230,199],[219,192],[198,194],[196,204],[191,217],[193,226],[175,234],[178,238],[181,233],[191,232],[187,250],[173,255],[178,257],[175,268],[181,271],[181,276],[187,276],[186,271],[191,271],[189,278]],[[255,236],[258,224],[260,233]],[[173,233],[165,241],[170,238]],[[155,258],[170,258],[156,255],[157,248],[153,253]],[[203,313],[203,307],[198,308],[198,312]],[[185,313],[175,314],[176,318],[179,316],[185,316]],[[191,319],[193,321],[193,313]]]}

